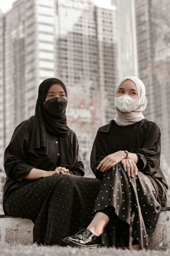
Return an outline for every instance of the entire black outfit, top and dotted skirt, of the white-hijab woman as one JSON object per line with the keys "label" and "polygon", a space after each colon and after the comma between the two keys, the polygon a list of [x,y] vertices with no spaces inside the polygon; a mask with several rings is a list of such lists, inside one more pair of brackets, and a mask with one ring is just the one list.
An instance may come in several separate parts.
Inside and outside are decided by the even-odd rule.
{"label": "entire black outfit, top and dotted skirt, of the white-hijab woman", "polygon": [[[128,177],[121,162],[105,173],[98,164],[109,154],[128,150],[138,157],[137,176]],[[149,241],[158,221],[161,206],[166,206],[167,183],[160,168],[161,132],[156,123],[142,119],[129,126],[119,126],[114,120],[99,128],[91,153],[91,168],[102,181],[94,212],[113,206],[120,220],[133,224],[132,233],[142,248]],[[135,213],[133,223],[132,213]],[[102,234],[104,246],[127,246],[121,236],[117,217],[113,215]]]}

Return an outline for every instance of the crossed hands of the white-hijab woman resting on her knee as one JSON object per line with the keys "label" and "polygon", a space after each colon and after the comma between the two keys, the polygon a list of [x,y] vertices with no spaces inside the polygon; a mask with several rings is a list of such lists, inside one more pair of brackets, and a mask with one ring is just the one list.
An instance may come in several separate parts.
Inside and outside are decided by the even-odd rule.
{"label": "crossed hands of the white-hijab woman resting on her knee", "polygon": [[100,169],[101,172],[105,172],[110,169],[113,165],[121,162],[123,164],[125,172],[127,171],[128,176],[134,177],[137,175],[138,168],[135,162],[132,159],[122,159],[122,154],[120,151],[117,151],[113,154],[106,156],[97,166],[97,169]]}

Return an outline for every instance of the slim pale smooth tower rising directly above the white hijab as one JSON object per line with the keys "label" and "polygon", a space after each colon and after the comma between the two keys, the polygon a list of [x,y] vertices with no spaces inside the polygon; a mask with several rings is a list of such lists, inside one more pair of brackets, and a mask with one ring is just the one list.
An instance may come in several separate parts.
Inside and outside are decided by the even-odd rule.
{"label": "slim pale smooth tower rising directly above the white hijab", "polygon": [[117,0],[118,70],[119,79],[138,77],[134,0]]}

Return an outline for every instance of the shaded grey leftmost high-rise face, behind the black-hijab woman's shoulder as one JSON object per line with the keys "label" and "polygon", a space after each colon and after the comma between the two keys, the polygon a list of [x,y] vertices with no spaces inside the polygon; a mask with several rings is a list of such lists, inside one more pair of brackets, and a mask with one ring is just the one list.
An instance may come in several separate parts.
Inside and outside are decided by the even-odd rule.
{"label": "shaded grey leftmost high-rise face, behind the black-hijab woman's shoulder", "polygon": [[18,0],[5,15],[5,145],[25,118],[25,3]]}

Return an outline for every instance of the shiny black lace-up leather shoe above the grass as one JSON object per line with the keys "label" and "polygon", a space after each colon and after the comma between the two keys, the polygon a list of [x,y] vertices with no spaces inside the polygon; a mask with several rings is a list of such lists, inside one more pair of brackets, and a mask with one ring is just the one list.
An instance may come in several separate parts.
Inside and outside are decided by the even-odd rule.
{"label": "shiny black lace-up leather shoe above the grass", "polygon": [[89,229],[82,229],[75,235],[67,236],[63,239],[63,242],[76,247],[96,248],[102,247],[101,235],[94,235]]}

